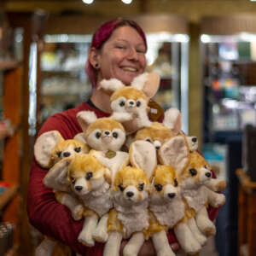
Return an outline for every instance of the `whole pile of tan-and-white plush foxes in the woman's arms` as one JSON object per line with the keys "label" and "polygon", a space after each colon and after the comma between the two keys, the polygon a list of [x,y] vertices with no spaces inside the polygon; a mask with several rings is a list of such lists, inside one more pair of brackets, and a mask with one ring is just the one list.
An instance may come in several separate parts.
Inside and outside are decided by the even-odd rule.
{"label": "whole pile of tan-and-white plush foxes in the woman's arms", "polygon": [[81,134],[64,140],[58,131],[48,131],[35,143],[38,164],[49,168],[44,184],[75,220],[84,218],[80,242],[88,247],[106,243],[104,256],[118,256],[122,239],[129,239],[123,254],[137,255],[149,238],[158,256],[175,255],[169,229],[185,253],[199,253],[216,232],[207,206],[225,201],[217,192],[224,180],[212,178],[196,137],[181,131],[180,112],[166,110],[161,123],[148,119],[150,87],[145,84],[155,80],[152,75],[143,73],[131,86],[103,80],[102,89],[112,92],[110,117],[79,112]]}

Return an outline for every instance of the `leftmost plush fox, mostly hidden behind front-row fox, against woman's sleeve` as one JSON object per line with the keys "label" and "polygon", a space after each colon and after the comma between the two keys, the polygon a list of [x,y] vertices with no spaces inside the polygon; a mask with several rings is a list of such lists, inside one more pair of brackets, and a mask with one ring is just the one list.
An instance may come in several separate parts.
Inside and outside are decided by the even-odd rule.
{"label": "leftmost plush fox, mostly hidden behind front-row fox, against woman's sleeve", "polygon": [[[64,140],[59,131],[47,131],[38,137],[34,145],[34,155],[38,164],[44,168],[55,166],[57,162],[65,157],[74,157],[77,154],[89,152],[89,147],[78,140]],[[72,193],[66,177],[59,177],[61,183],[56,185],[53,172],[49,169],[44,177],[44,184],[55,189],[55,198],[61,204],[65,205],[72,213],[75,220],[83,217],[84,207]],[[59,185],[61,184],[61,185]],[[57,242],[54,239],[45,237],[36,249],[36,256],[52,255]],[[62,245],[61,245],[62,247]]]}

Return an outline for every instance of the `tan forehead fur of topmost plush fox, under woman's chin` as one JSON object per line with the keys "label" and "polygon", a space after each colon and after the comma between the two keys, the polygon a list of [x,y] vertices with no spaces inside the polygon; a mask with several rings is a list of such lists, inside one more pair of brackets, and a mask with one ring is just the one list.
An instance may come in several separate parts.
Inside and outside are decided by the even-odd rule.
{"label": "tan forehead fur of topmost plush fox, under woman's chin", "polygon": [[138,90],[137,88],[134,88],[132,86],[125,86],[115,92],[113,92],[113,95],[110,97],[110,102],[115,101],[119,97],[125,97],[126,99],[131,99],[137,101],[139,98],[143,98],[145,102],[148,102],[148,97],[145,96],[143,93],[143,90]]}

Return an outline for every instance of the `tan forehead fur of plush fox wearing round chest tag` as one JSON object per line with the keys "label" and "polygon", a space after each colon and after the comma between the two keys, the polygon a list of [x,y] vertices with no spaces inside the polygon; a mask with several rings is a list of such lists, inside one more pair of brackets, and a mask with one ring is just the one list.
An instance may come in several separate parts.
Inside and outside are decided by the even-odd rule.
{"label": "tan forehead fur of plush fox wearing round chest tag", "polygon": [[113,131],[113,129],[115,128],[125,132],[123,125],[121,125],[118,121],[114,119],[110,119],[110,118],[96,119],[96,121],[90,124],[88,129],[85,131],[85,138],[88,137],[90,133],[92,131],[95,131],[96,129]]}

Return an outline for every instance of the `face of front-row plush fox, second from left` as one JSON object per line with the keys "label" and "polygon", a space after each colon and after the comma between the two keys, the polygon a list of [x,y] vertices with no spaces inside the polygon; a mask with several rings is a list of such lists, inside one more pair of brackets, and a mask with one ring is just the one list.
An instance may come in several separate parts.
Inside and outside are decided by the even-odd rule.
{"label": "face of front-row plush fox, second from left", "polygon": [[114,198],[125,205],[139,204],[148,198],[148,183],[142,169],[125,166],[114,178]]}

